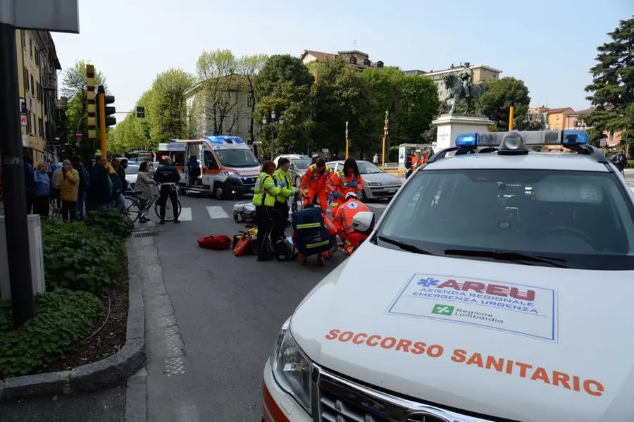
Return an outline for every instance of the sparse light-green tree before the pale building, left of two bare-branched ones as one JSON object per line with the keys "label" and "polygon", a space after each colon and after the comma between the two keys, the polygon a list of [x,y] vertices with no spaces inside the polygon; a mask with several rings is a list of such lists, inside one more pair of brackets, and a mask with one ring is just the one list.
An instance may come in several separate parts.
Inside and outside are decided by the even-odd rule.
{"label": "sparse light-green tree before the pale building, left of two bare-branched ones", "polygon": [[[196,69],[204,101],[197,107],[206,120],[213,120],[213,132],[222,134],[232,130],[240,113],[238,95],[245,89],[246,80],[237,74],[238,63],[231,50],[203,51]],[[232,115],[231,121],[226,121]]]}

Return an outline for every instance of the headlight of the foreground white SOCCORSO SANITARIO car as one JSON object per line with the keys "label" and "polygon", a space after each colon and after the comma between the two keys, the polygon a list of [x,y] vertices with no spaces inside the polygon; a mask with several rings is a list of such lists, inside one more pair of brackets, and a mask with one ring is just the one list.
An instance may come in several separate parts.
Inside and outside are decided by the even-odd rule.
{"label": "headlight of the foreground white SOCCORSO SANITARIO car", "polygon": [[273,376],[283,390],[311,413],[311,361],[299,349],[289,330],[290,318],[282,325],[271,354]]}

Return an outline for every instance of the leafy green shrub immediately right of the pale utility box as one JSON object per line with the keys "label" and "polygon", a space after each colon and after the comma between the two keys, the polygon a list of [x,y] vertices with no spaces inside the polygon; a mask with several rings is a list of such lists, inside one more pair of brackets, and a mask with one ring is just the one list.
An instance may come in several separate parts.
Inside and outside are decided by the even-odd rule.
{"label": "leafy green shrub immediately right of the pale utility box", "polygon": [[120,238],[84,223],[44,224],[42,246],[47,290],[102,292],[122,260]]}

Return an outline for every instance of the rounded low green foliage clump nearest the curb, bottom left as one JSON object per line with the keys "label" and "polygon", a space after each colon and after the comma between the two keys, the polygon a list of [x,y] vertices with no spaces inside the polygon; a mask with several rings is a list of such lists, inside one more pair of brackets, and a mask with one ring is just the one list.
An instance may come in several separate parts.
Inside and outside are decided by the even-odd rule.
{"label": "rounded low green foliage clump nearest the curb, bottom left", "polygon": [[35,318],[0,336],[0,379],[34,373],[73,351],[104,315],[96,296],[68,290],[42,294],[36,309]]}

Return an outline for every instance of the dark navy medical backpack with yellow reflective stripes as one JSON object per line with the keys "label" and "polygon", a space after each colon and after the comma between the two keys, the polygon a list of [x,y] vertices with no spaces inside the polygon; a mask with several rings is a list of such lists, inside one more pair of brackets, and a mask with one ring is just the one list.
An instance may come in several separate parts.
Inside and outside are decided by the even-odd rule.
{"label": "dark navy medical backpack with yellow reflective stripes", "polygon": [[321,208],[295,211],[292,225],[293,244],[304,256],[321,254],[335,247],[335,237],[325,227]]}

